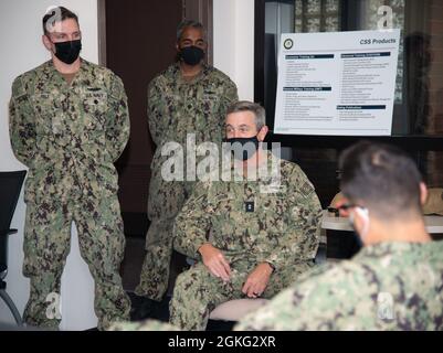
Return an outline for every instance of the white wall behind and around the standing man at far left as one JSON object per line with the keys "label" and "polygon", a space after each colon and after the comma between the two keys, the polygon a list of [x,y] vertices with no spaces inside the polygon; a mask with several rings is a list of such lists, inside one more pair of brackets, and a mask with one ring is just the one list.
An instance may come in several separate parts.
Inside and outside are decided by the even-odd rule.
{"label": "white wall behind and around the standing man at far left", "polygon": [[[41,43],[41,19],[50,6],[62,4],[80,17],[83,32],[82,56],[98,62],[97,2],[96,0],[1,0],[0,1],[0,171],[25,169],[15,160],[9,143],[8,101],[14,77],[49,60]],[[10,236],[8,293],[22,313],[29,297],[29,280],[22,276],[23,226],[25,204],[23,193],[17,205],[11,227],[19,233]],[[87,266],[80,258],[77,235],[73,232],[72,250],[62,279],[62,329],[87,329],[96,324],[93,312],[94,288]],[[0,301],[0,322],[13,319]]]}

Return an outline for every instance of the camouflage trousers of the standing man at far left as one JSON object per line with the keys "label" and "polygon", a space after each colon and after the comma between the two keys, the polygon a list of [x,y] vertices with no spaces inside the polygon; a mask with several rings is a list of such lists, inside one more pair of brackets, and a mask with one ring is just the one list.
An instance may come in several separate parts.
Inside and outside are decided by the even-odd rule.
{"label": "camouflage trousers of the standing man at far left", "polygon": [[[117,195],[78,201],[39,199],[28,201],[24,232],[23,275],[31,280],[24,321],[33,327],[56,329],[61,315],[52,312],[61,293],[61,277],[71,248],[71,224],[75,222],[80,252],[95,281],[98,329],[129,319],[130,301],[123,289],[119,267],[125,236]],[[64,304],[68,304],[64,302]]]}

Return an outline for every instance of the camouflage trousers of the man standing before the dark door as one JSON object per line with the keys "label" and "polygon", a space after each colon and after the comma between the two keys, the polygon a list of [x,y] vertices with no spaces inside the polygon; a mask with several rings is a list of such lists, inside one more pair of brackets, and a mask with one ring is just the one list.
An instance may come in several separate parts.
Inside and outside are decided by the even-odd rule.
{"label": "camouflage trousers of the man standing before the dark door", "polygon": [[152,170],[149,184],[146,255],[137,296],[160,301],[168,289],[172,256],[173,222],[193,188],[192,182],[165,181],[160,169]]}

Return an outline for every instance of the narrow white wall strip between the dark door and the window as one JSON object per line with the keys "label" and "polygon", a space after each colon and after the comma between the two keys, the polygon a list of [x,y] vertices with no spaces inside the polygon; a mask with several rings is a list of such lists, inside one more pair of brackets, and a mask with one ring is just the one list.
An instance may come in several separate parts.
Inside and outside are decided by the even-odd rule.
{"label": "narrow white wall strip between the dark door and the window", "polygon": [[214,66],[254,100],[254,0],[213,0]]}

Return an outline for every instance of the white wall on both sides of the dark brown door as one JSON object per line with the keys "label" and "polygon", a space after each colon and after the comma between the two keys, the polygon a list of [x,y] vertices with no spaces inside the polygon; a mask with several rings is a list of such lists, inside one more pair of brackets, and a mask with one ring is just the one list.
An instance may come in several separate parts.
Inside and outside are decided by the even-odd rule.
{"label": "white wall on both sides of the dark brown door", "polygon": [[[1,0],[0,1],[0,170],[18,170],[9,145],[8,101],[11,83],[19,74],[49,58],[41,44],[41,18],[46,8],[63,4],[80,15],[83,32],[82,56],[98,61],[96,0]],[[238,85],[240,99],[254,99],[254,0],[213,0],[214,66]],[[21,195],[12,227],[19,234],[10,237],[8,292],[22,312],[29,296],[29,281],[21,274],[23,261],[23,225],[25,205]],[[76,232],[62,280],[62,329],[76,330],[95,325],[92,278],[80,259]],[[70,280],[66,280],[70,278]],[[86,290],[85,290],[86,288]],[[13,322],[0,302],[0,322]]]}

